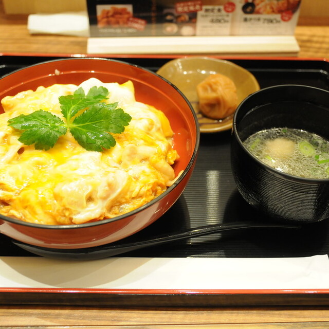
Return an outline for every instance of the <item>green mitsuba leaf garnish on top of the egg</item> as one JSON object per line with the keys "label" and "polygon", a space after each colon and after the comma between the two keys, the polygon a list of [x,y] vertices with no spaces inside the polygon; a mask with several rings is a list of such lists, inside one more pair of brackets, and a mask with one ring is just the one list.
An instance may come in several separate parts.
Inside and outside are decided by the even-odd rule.
{"label": "green mitsuba leaf garnish on top of the egg", "polygon": [[108,90],[92,87],[87,95],[80,87],[73,95],[60,96],[63,121],[43,109],[31,114],[21,114],[8,120],[9,126],[22,131],[19,141],[25,145],[34,144],[36,150],[49,150],[65,135],[67,130],[87,151],[102,152],[114,147],[113,134],[124,132],[131,116],[117,108],[118,103],[106,104]]}

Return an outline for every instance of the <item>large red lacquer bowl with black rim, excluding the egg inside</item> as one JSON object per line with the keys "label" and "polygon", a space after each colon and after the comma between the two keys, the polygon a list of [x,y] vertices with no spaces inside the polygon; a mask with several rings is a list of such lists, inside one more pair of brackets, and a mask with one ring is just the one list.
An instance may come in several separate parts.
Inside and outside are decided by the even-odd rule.
{"label": "large red lacquer bowl with black rim, excluding the egg inside", "polygon": [[166,192],[125,215],[79,225],[31,224],[0,215],[0,233],[26,244],[45,248],[102,246],[130,236],[155,222],[176,202],[186,187],[199,147],[197,118],[185,96],[174,85],[150,70],[121,61],[98,58],[43,62],[2,77],[0,99],[23,90],[35,90],[41,85],[78,85],[92,77],[103,82],[124,83],[131,80],[135,86],[137,101],[154,105],[166,114],[174,131],[175,149],[180,155],[173,167],[176,175],[180,171],[183,173]]}

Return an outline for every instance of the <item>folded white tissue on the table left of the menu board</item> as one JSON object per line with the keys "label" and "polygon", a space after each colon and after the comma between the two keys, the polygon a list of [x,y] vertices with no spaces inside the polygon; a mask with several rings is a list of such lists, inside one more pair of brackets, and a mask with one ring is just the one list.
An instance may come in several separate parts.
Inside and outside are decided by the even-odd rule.
{"label": "folded white tissue on the table left of the menu board", "polygon": [[85,11],[31,14],[28,16],[27,28],[30,34],[89,36],[88,14]]}

